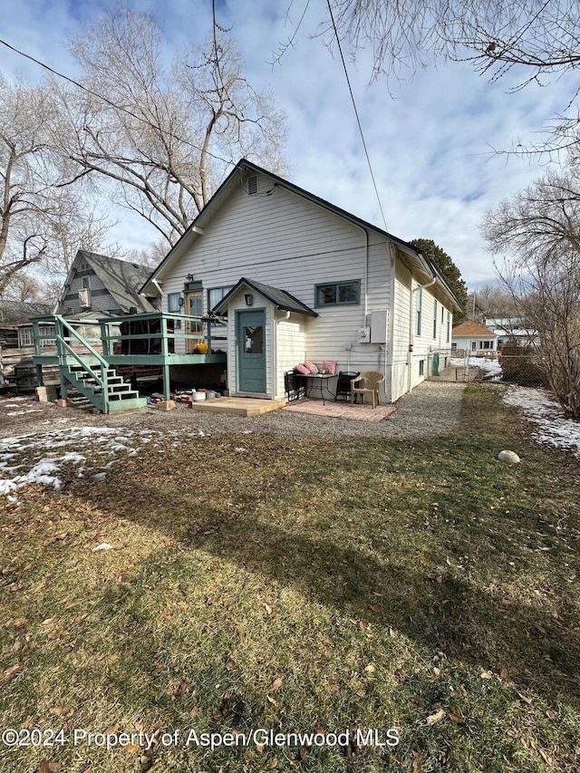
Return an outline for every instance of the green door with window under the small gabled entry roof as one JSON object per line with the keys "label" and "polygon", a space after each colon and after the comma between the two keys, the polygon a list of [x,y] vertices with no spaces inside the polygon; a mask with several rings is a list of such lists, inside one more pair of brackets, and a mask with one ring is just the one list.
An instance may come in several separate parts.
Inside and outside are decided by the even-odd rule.
{"label": "green door with window under the small gabled entry roof", "polygon": [[237,313],[238,391],[266,392],[266,312]]}

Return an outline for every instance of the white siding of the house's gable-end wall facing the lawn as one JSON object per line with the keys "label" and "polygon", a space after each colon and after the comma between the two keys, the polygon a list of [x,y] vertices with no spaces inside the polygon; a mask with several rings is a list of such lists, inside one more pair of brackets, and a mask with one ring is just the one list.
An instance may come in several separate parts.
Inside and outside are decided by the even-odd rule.
{"label": "white siding of the house's gable-end wall facing the lawn", "polygon": [[[260,181],[258,189],[266,189],[266,182]],[[304,352],[297,346],[300,356],[289,367],[308,359],[333,360],[342,370],[384,370],[384,347],[358,343],[358,331],[370,324],[373,309],[388,309],[391,304],[391,257],[386,240],[371,237],[365,277],[367,237],[362,228],[285,188],[275,188],[271,196],[248,195],[238,188],[205,231],[195,237],[170,273],[160,274],[164,310],[169,293],[183,293],[189,273],[203,282],[204,313],[209,311],[208,289],[236,285],[246,276],[284,289],[319,314],[302,324],[307,346]],[[315,305],[315,285],[348,280],[360,281],[360,304]],[[347,351],[344,343],[351,343],[352,349]],[[278,362],[280,374],[283,359]]]}

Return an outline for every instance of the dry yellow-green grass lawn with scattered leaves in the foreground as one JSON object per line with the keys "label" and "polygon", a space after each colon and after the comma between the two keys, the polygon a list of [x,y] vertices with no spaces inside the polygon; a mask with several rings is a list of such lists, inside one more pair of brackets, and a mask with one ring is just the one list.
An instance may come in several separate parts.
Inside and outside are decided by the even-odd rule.
{"label": "dry yellow-green grass lawn with scattered leaves in the foreground", "polygon": [[435,440],[157,442],[24,489],[1,518],[0,769],[580,769],[579,469],[500,395],[469,387]]}

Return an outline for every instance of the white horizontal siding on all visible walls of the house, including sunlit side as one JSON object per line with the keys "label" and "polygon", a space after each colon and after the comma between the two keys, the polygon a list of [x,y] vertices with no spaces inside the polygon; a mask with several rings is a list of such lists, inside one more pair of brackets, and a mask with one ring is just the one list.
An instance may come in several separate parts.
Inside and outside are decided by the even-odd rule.
{"label": "white horizontal siding on all visible walls of the house, including sunlit side", "polygon": [[[285,320],[284,312],[264,303],[269,396],[284,394],[284,372],[298,362],[333,360],[338,371],[384,372],[382,399],[396,401],[427,377],[430,352],[443,345],[449,348],[449,295],[440,285],[423,289],[421,334],[416,335],[412,288],[427,284],[428,275],[421,274],[420,280],[413,275],[414,258],[388,237],[266,176],[258,175],[257,192],[248,194],[241,171],[204,212],[198,231],[189,233],[156,275],[165,311],[168,295],[183,294],[186,277],[193,275],[203,284],[204,313],[209,311],[208,290],[237,285],[244,276],[295,295],[318,314],[292,314]],[[316,306],[315,285],[343,281],[360,282],[360,303]],[[438,320],[433,335],[435,299]],[[254,307],[265,301],[255,298]],[[228,304],[229,314],[240,308],[245,308],[243,294]],[[366,343],[359,330],[372,325],[374,311],[388,312],[386,341]],[[235,324],[230,321],[227,327],[228,387],[235,392]]]}

